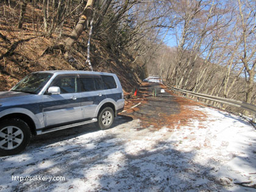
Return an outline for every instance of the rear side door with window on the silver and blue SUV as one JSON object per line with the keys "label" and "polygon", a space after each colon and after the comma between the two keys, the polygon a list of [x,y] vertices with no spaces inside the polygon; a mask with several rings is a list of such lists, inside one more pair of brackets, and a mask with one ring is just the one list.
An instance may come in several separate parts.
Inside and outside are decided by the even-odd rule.
{"label": "rear side door with window on the silver and blue SUV", "polygon": [[80,74],[79,82],[83,118],[94,118],[96,108],[106,98],[101,76]]}

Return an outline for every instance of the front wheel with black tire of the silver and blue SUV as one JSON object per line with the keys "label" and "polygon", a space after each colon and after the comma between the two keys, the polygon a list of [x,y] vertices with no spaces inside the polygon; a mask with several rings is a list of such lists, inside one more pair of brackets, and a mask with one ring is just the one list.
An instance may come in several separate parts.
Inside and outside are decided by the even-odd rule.
{"label": "front wheel with black tire of the silver and blue SUV", "polygon": [[24,151],[32,137],[26,122],[18,118],[0,123],[0,156],[15,155]]}

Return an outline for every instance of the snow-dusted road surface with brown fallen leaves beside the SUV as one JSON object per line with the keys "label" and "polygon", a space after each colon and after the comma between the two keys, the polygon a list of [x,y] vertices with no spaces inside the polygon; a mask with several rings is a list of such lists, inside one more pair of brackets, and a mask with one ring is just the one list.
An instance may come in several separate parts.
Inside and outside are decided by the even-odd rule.
{"label": "snow-dusted road surface with brown fallen leaves beside the SUV", "polygon": [[255,130],[243,119],[146,92],[130,99],[126,111],[112,129],[40,135],[23,154],[1,157],[0,191],[255,190],[235,184],[256,180]]}

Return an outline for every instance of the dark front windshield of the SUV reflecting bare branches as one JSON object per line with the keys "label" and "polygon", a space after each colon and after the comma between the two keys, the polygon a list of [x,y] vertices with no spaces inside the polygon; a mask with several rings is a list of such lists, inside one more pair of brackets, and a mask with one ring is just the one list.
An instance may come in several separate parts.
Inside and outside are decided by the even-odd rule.
{"label": "dark front windshield of the SUV reflecting bare branches", "polygon": [[51,73],[31,73],[18,82],[11,91],[38,94],[51,77]]}

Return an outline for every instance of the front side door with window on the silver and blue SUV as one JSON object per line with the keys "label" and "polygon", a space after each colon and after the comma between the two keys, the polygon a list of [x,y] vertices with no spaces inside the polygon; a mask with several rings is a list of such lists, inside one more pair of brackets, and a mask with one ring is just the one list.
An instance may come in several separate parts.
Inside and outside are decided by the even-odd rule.
{"label": "front side door with window on the silver and blue SUV", "polygon": [[63,126],[82,119],[78,78],[75,74],[55,77],[50,87],[60,87],[60,94],[44,94],[43,116],[45,126]]}

